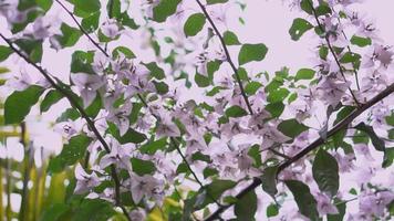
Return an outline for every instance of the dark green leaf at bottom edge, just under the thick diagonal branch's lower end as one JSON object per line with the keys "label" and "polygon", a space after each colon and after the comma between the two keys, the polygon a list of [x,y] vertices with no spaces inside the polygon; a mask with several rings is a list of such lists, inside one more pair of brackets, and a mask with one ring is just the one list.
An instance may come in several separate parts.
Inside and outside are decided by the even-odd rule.
{"label": "dark green leaf at bottom edge, just under the thick diagonal branch's lower end", "polygon": [[257,211],[257,196],[255,190],[246,193],[241,199],[236,202],[234,213],[238,220],[252,221]]}

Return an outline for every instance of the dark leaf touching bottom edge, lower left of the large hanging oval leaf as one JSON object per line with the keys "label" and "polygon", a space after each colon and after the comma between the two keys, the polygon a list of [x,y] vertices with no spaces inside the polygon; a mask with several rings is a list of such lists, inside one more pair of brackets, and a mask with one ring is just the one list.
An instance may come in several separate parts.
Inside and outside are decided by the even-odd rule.
{"label": "dark leaf touching bottom edge, lower left of the large hanging oval leaf", "polygon": [[317,210],[317,200],[311,194],[309,187],[298,180],[286,180],[284,183],[294,196],[294,200],[301,214],[311,220],[318,220],[319,212]]}

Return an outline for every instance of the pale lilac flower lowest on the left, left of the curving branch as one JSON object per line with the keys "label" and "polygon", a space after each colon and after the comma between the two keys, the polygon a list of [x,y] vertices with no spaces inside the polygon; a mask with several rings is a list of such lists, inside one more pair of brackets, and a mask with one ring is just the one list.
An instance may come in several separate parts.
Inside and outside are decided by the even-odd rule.
{"label": "pale lilac flower lowest on the left, left of the curving branch", "polygon": [[80,164],[76,165],[74,173],[76,178],[76,186],[74,189],[75,194],[87,192],[101,183],[97,175],[94,171],[89,175]]}

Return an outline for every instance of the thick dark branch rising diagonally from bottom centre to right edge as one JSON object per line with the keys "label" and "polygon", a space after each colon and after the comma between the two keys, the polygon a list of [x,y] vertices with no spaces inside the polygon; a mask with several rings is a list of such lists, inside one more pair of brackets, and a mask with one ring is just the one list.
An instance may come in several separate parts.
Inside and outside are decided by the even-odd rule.
{"label": "thick dark branch rising diagonally from bottom centre to right edge", "polygon": [[[362,113],[364,113],[366,109],[369,109],[370,107],[372,107],[373,105],[375,105],[376,103],[381,102],[382,99],[384,99],[385,97],[387,97],[388,95],[391,95],[392,93],[394,93],[394,84],[391,84],[388,87],[386,87],[384,91],[382,91],[380,94],[377,94],[375,97],[373,97],[372,99],[370,99],[369,102],[366,102],[365,104],[361,105],[359,108],[356,108],[355,110],[353,110],[350,115],[348,115],[346,118],[344,118],[342,122],[338,123],[332,129],[330,129],[326,133],[326,138],[332,137],[333,135],[335,135],[338,131],[344,129],[348,127],[348,125],[350,125],[353,119],[355,119],[357,116],[360,116]],[[294,157],[286,160],[283,164],[281,164],[278,167],[278,171],[277,175],[279,175],[281,171],[283,171],[286,168],[288,168],[290,165],[292,165],[293,162],[296,162],[297,160],[301,159],[302,157],[307,156],[309,152],[311,152],[312,150],[317,149],[320,145],[324,144],[325,139],[323,139],[322,137],[319,137],[318,139],[315,139],[313,143],[311,143],[309,146],[307,146],[303,150],[301,150],[299,154],[297,154]],[[239,200],[241,199],[243,196],[246,196],[248,192],[252,191],[253,189],[256,189],[258,186],[261,185],[261,179],[255,178],[253,182],[250,183],[248,187],[246,187],[243,190],[241,190],[236,198]],[[234,203],[229,203],[222,207],[219,207],[210,217],[208,217],[206,219],[206,221],[212,221],[215,219],[217,219],[220,213],[222,213],[225,210],[227,210],[228,208],[230,208]]]}

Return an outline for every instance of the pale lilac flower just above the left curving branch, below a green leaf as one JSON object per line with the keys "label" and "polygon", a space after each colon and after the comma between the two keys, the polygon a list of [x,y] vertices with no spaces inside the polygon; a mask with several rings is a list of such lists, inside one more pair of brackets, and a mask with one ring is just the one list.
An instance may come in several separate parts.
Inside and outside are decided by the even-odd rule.
{"label": "pale lilac flower just above the left curving branch, below a green leaf", "polygon": [[72,82],[77,86],[84,107],[87,107],[97,95],[97,90],[104,84],[104,77],[95,74],[71,74]]}

